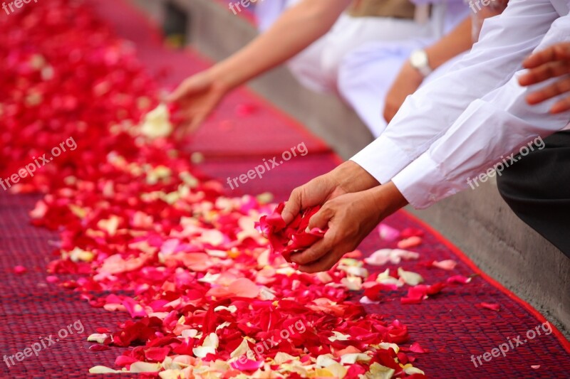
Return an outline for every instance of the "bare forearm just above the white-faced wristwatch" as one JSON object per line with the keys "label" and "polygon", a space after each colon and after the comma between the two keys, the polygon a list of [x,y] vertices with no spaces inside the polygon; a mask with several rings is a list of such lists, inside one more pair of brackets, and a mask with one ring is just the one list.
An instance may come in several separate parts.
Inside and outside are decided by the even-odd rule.
{"label": "bare forearm just above the white-faced wristwatch", "polygon": [[460,23],[453,31],[447,36],[437,41],[434,45],[425,49],[430,68],[435,70],[443,63],[451,58],[463,53],[473,46],[473,38],[471,35],[472,19],[471,17],[465,18],[465,21]]}

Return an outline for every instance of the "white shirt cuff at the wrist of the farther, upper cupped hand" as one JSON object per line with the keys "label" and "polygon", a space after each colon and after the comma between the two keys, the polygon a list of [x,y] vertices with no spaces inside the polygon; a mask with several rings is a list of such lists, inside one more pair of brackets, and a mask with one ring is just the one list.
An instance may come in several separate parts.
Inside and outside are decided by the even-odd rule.
{"label": "white shirt cuff at the wrist of the farther, upper cupped hand", "polygon": [[379,183],[388,183],[412,159],[394,142],[381,135],[359,151],[351,161],[368,171]]}

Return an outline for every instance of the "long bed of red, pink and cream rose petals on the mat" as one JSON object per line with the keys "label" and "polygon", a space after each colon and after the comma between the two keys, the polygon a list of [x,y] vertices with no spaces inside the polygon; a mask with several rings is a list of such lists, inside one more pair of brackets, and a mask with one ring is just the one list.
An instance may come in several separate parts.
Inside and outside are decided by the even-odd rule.
{"label": "long bed of red, pink and cream rose petals on the mat", "polygon": [[[30,4],[0,18],[0,33],[2,177],[70,137],[77,144],[10,188],[45,193],[33,223],[60,237],[46,281],[124,314],[119,325],[90,331],[92,350],[117,351],[113,368],[91,372],[423,377],[408,353],[425,351],[409,347],[407,327],[348,298],[363,290],[382,301],[408,286],[405,302],[415,304],[441,296],[443,284],[421,284],[403,269],[368,275],[356,253],[329,272],[296,271],[289,255],[323,237],[306,231],[318,208],[284,225],[282,204],[273,211],[267,196],[229,197],[200,174],[175,148],[168,109],[133,46],[81,3]],[[420,243],[417,230],[386,233]]]}

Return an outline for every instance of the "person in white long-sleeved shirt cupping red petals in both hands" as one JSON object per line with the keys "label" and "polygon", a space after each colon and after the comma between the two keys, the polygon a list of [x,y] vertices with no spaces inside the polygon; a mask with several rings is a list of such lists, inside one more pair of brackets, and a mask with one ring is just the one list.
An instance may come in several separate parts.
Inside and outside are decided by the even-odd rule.
{"label": "person in white long-sleeved shirt cupping red petals in both hands", "polygon": [[[547,79],[544,73],[558,66],[531,71],[532,78],[543,73],[539,78],[547,79],[546,89],[539,89],[540,84],[532,80],[522,79],[519,84],[519,78],[525,78],[522,61],[527,55],[570,41],[569,5],[560,0],[510,1],[500,16],[484,22],[480,42],[470,53],[405,100],[378,139],[328,174],[295,188],[282,212],[285,222],[304,208],[322,205],[309,220],[309,228],[327,229],[322,240],[291,256],[299,269],[330,269],[396,210],[408,203],[427,208],[465,190],[469,178],[482,172],[490,175],[493,164],[504,156],[521,151],[537,137],[564,129],[570,112],[550,112],[553,107],[564,110],[553,106],[554,100],[530,106],[527,97],[538,102],[545,93],[556,95],[566,89],[567,76],[563,85],[553,87],[556,79]],[[532,67],[536,56],[525,64],[530,61]],[[566,186],[547,188],[554,179],[537,183],[538,178],[527,178],[539,190],[526,191],[535,203],[556,191],[560,200],[559,207],[555,201],[548,205],[549,219],[536,215],[538,221],[531,226],[540,228],[539,232],[549,229],[545,236],[570,257],[570,223],[565,219],[569,214],[570,187],[564,166],[568,155],[552,150],[549,172],[560,170],[566,178],[559,181]]]}

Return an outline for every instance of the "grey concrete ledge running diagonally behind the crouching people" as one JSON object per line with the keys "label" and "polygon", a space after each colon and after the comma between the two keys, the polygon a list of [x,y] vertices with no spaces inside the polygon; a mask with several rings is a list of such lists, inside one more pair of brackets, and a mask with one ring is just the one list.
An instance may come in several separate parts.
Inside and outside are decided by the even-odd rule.
{"label": "grey concrete ledge running diagonally behind the crouching people", "polygon": [[[134,1],[164,23],[162,8],[169,0]],[[257,35],[251,23],[217,1],[170,3],[190,15],[188,41],[214,60],[234,53]],[[345,159],[372,141],[352,110],[336,97],[304,89],[285,68],[255,80],[252,88],[305,124]],[[496,183],[484,183],[428,210],[412,212],[570,337],[570,260],[512,213],[500,198]]]}

